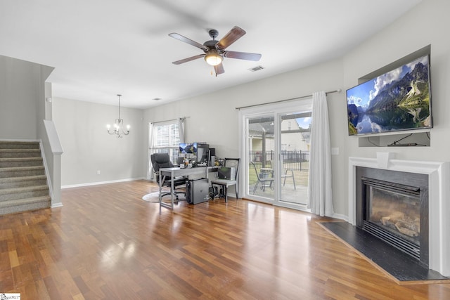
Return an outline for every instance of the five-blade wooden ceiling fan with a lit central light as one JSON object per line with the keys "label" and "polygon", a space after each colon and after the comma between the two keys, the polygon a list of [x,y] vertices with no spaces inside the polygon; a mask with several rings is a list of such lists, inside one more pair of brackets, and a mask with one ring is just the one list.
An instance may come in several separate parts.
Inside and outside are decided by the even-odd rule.
{"label": "five-blade wooden ceiling fan with a lit central light", "polygon": [[178,39],[179,41],[184,41],[185,43],[200,48],[203,50],[203,52],[205,52],[204,54],[199,54],[198,56],[192,56],[190,58],[176,60],[173,62],[173,64],[180,65],[182,63],[187,63],[191,60],[196,60],[198,58],[205,58],[205,61],[209,65],[212,65],[214,67],[214,71],[216,72],[217,76],[225,72],[224,65],[222,65],[222,60],[224,60],[224,58],[238,58],[241,60],[253,60],[253,61],[258,61],[261,58],[261,54],[258,53],[236,52],[225,50],[226,48],[228,48],[228,46],[233,44],[235,41],[240,39],[240,37],[242,37],[245,34],[245,30],[243,30],[238,26],[231,28],[231,30],[220,39],[220,41],[216,41],[216,37],[219,34],[217,30],[210,30],[208,33],[210,34],[212,40],[205,41],[203,45],[175,32],[169,34],[169,37],[173,37],[174,39]]}

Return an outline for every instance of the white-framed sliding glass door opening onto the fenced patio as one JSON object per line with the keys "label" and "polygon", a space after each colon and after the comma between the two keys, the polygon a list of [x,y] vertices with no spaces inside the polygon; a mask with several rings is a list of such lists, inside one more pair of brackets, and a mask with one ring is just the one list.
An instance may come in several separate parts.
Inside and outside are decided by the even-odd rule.
{"label": "white-framed sliding glass door opening onto the fenced patio", "polygon": [[311,100],[242,110],[240,122],[243,197],[306,209]]}

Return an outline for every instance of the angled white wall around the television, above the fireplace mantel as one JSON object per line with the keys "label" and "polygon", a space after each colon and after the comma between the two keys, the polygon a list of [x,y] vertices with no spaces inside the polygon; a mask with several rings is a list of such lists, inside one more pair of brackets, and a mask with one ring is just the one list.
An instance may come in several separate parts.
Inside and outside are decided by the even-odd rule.
{"label": "angled white wall around the television, above the fireplace mantel", "polygon": [[[434,128],[430,132],[430,147],[360,148],[357,137],[346,137],[347,157],[375,157],[376,152],[381,151],[394,152],[397,159],[450,161],[450,40],[446,38],[447,28],[450,28],[449,11],[449,1],[423,0],[404,17],[343,58],[345,89],[348,89],[358,84],[359,77],[431,45],[430,79]],[[341,177],[347,178],[347,172],[345,170],[345,176]],[[342,197],[347,199],[347,193]]]}

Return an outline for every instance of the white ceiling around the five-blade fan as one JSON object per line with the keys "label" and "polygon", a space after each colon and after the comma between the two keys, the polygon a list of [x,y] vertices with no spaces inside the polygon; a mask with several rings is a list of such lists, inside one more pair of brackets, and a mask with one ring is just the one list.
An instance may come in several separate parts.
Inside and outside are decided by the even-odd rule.
{"label": "white ceiling around the five-blade fan", "polygon": [[[53,97],[146,108],[340,57],[420,1],[1,0],[0,55],[55,67]],[[234,25],[247,34],[227,50],[259,62],[172,64],[203,51],[169,33],[203,44]]]}

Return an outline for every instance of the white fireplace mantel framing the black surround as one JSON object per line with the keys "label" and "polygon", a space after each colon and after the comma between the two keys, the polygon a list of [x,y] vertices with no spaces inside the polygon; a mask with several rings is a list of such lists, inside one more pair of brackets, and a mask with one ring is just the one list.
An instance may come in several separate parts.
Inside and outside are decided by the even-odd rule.
{"label": "white fireplace mantel framing the black surround", "polygon": [[429,268],[450,276],[450,163],[394,159],[391,152],[376,158],[349,157],[348,222],[356,225],[356,167],[428,175]]}

